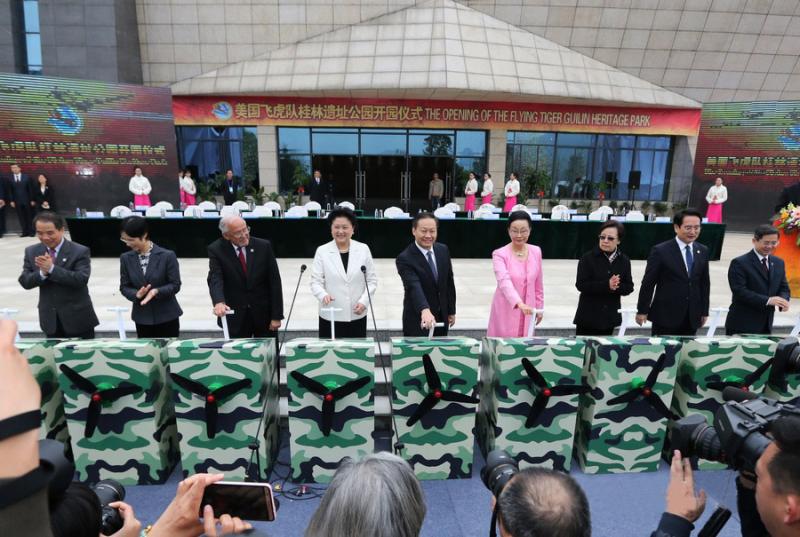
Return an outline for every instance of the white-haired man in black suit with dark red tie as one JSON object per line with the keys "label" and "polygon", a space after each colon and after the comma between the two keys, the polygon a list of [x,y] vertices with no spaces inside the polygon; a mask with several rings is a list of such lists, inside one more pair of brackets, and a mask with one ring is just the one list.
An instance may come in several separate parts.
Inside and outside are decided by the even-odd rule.
{"label": "white-haired man in black suit with dark red tie", "polygon": [[276,337],[283,319],[283,292],[272,246],[250,237],[250,228],[238,216],[220,220],[219,229],[222,238],[208,247],[214,315],[234,311],[227,317],[231,337]]}

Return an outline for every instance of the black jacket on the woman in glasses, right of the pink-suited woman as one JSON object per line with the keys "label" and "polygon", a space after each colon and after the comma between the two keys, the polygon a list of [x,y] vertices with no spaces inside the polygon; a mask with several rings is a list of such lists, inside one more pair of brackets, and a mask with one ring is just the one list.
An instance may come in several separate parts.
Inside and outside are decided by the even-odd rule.
{"label": "black jacket on the woman in glasses, right of the pink-suited woman", "polygon": [[[620,277],[616,291],[608,286],[608,280],[614,274]],[[572,321],[575,325],[598,330],[619,326],[622,324],[622,315],[617,313],[620,309],[620,297],[633,292],[630,258],[620,252],[609,263],[602,250],[595,247],[583,254],[578,261],[575,287],[581,293],[578,310]]]}

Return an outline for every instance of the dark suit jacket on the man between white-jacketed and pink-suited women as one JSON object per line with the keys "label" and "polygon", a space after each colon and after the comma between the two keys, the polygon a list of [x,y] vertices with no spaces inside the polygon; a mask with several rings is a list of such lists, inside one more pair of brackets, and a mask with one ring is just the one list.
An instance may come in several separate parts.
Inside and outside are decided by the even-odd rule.
{"label": "dark suit jacket on the man between white-jacketed and pink-suited women", "polygon": [[456,286],[450,250],[436,242],[433,244],[433,255],[439,276],[437,280],[434,280],[428,260],[419,251],[416,242],[409,244],[395,260],[397,272],[403,280],[404,336],[428,335],[420,327],[420,314],[425,308],[430,308],[437,323],[445,323],[444,330],[437,329],[437,334],[447,334],[447,317],[456,314]]}

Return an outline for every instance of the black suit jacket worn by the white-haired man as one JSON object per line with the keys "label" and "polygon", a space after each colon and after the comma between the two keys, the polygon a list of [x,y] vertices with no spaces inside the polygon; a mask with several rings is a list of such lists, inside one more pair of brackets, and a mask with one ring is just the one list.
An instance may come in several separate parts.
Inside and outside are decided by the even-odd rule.
{"label": "black suit jacket worn by the white-haired man", "polygon": [[230,241],[219,238],[208,247],[208,290],[211,303],[224,302],[234,310],[228,316],[231,334],[238,333],[249,308],[257,326],[283,319],[283,290],[278,261],[269,241],[250,237],[247,275]]}

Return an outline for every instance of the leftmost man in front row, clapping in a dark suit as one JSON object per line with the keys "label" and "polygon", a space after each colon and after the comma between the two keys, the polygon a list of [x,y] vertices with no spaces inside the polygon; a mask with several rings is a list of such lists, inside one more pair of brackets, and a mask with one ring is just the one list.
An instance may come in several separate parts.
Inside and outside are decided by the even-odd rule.
{"label": "leftmost man in front row, clapping in a dark suit", "polygon": [[39,326],[50,338],[94,338],[99,323],[89,297],[89,249],[64,238],[64,218],[48,211],[34,219],[41,241],[25,248],[19,283],[39,288]]}

